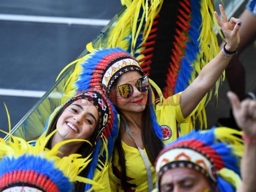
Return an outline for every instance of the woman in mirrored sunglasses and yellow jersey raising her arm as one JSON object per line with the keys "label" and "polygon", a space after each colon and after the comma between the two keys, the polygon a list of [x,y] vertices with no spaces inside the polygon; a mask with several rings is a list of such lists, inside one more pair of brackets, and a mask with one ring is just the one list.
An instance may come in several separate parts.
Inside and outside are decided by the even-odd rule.
{"label": "woman in mirrored sunglasses and yellow jersey raising her arm", "polygon": [[220,12],[223,22],[217,13],[216,18],[227,45],[182,93],[166,99],[129,53],[121,48],[86,47],[92,53],[76,65],[70,82],[78,90],[102,89],[120,114],[111,165],[113,191],[152,191],[156,182],[153,165],[163,144],[177,139],[178,125],[187,122],[234,55],[241,23],[235,18],[228,22],[222,6]]}

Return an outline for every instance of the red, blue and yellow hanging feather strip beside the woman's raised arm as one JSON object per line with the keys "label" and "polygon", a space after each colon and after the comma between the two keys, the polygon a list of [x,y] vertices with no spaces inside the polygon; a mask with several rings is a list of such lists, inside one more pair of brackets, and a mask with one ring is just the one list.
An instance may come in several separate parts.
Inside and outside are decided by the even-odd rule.
{"label": "red, blue and yellow hanging feather strip beside the woman's raised arm", "polygon": [[[167,74],[165,97],[183,91],[195,79],[201,69],[218,53],[218,41],[213,28],[214,1],[180,0],[177,16],[176,35],[173,42],[170,69]],[[217,29],[219,25],[217,24]],[[219,81],[215,95],[218,96]],[[207,94],[193,114],[192,124],[198,119],[200,127],[207,127],[205,105],[211,99],[212,91]],[[208,98],[208,99],[207,99]]]}

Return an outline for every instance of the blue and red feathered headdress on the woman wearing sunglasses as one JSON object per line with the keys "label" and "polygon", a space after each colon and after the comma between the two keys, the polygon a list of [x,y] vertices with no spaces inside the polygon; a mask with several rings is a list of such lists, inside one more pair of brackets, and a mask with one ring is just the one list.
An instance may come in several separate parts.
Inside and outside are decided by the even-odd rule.
{"label": "blue and red feathered headdress on the woman wearing sunglasses", "polygon": [[82,71],[75,82],[77,90],[99,89],[109,95],[113,82],[124,72],[141,69],[138,61],[121,48],[101,48],[94,50],[80,63]]}

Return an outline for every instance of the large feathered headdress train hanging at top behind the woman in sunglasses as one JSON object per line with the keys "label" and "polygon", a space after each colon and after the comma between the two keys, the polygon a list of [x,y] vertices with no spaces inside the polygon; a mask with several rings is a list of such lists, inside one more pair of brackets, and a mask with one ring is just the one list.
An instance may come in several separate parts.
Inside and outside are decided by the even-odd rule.
{"label": "large feathered headdress train hanging at top behind the woman in sunglasses", "polygon": [[[122,0],[122,4],[126,10],[120,13],[109,34],[105,34],[104,41],[98,45],[102,48],[119,47],[134,56],[143,72],[150,74],[150,78],[163,89],[165,98],[183,91],[219,53],[214,30],[215,24],[219,31],[213,14],[214,0]],[[87,51],[92,53],[92,46],[99,48],[94,43],[86,46]],[[64,88],[75,89],[72,83],[82,71],[79,63],[86,59],[87,55],[71,63],[77,65]],[[219,81],[216,96],[218,87]],[[197,106],[190,129],[196,119],[201,127],[207,127],[205,105],[211,96],[212,90]]]}

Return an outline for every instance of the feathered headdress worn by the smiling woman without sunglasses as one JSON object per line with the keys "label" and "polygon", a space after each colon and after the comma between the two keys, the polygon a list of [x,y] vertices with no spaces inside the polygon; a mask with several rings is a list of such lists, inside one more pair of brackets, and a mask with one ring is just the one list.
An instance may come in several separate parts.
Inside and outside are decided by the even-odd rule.
{"label": "feathered headdress worn by the smiling woman without sunglasses", "polygon": [[[65,96],[67,98],[67,96]],[[77,99],[86,99],[91,102],[98,110],[99,113],[99,128],[96,144],[94,145],[94,151],[92,154],[92,161],[89,164],[89,171],[86,178],[93,179],[94,171],[98,165],[98,158],[101,156],[105,161],[104,168],[106,167],[107,161],[112,156],[112,150],[114,146],[114,140],[118,135],[118,117],[117,112],[109,99],[100,90],[87,90],[78,91],[73,97],[68,99],[60,108],[58,108],[50,117],[45,131],[48,129],[51,120],[56,115],[56,112],[61,110],[63,106]],[[85,184],[85,190],[91,188],[90,184]]]}

